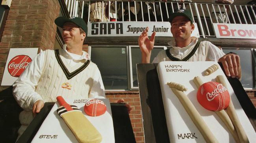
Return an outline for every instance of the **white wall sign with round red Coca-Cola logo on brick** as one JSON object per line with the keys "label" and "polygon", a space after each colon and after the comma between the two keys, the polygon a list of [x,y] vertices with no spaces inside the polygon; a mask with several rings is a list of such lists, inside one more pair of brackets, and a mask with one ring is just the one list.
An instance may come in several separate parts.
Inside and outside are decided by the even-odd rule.
{"label": "white wall sign with round red Coca-Cola logo on brick", "polygon": [[4,68],[1,86],[10,86],[34,59],[38,48],[11,48]]}

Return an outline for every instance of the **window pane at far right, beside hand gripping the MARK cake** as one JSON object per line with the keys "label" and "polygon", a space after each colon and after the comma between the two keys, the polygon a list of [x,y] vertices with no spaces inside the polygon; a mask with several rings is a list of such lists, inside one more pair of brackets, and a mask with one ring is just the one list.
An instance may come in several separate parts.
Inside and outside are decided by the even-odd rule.
{"label": "window pane at far right, beside hand gripping the MARK cake", "polygon": [[244,88],[254,88],[252,74],[252,54],[250,49],[222,49],[224,53],[235,52],[240,56],[242,69],[241,83]]}

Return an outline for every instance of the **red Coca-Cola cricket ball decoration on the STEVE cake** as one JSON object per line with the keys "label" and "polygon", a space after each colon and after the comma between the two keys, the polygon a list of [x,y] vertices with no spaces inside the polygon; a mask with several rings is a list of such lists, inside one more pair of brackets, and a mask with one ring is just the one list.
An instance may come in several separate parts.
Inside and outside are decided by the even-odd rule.
{"label": "red Coca-Cola cricket ball decoration on the STEVE cake", "polygon": [[84,112],[93,117],[104,114],[106,110],[107,106],[105,103],[98,99],[90,100],[84,105]]}

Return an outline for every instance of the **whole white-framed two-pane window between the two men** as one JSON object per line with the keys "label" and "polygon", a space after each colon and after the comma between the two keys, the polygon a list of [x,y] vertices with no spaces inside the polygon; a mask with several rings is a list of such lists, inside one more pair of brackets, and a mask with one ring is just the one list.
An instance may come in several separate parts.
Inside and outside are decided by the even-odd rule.
{"label": "whole white-framed two-pane window between the two men", "polygon": [[[166,47],[155,46],[150,61],[163,49]],[[136,64],[141,62],[138,46],[89,46],[89,53],[101,72],[106,90],[138,89]]]}

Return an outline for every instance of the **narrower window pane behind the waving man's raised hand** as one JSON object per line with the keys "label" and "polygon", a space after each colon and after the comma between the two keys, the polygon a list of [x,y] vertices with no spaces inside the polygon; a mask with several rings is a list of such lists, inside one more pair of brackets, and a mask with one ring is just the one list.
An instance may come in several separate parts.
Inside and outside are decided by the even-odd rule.
{"label": "narrower window pane behind the waving man's raised hand", "polygon": [[[163,50],[163,47],[154,47],[151,51],[150,63],[153,62],[154,58],[157,54]],[[141,63],[141,52],[139,47],[131,47],[131,58],[132,58],[132,72],[133,72],[133,87],[138,87],[138,79],[137,79],[137,72],[136,72],[136,64]]]}

